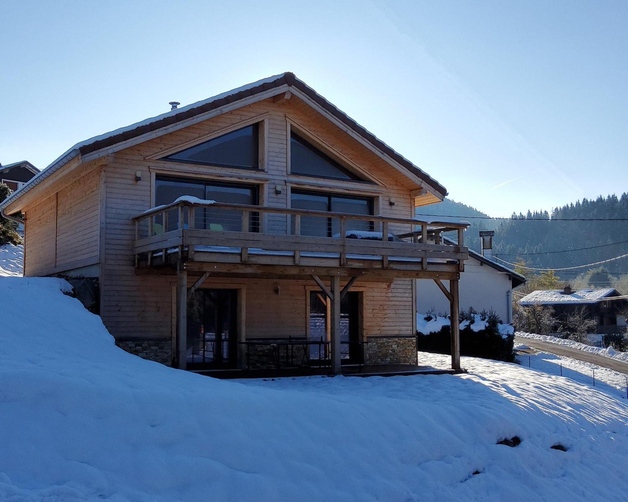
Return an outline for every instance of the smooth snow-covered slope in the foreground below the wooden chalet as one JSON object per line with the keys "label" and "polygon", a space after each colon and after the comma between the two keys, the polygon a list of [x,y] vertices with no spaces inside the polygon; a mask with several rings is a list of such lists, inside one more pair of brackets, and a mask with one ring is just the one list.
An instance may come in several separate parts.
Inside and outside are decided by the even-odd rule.
{"label": "smooth snow-covered slope in the foreground below the wooden chalet", "polygon": [[[116,348],[100,319],[62,294],[67,287],[0,280],[0,499],[556,502],[628,493],[628,405],[569,378],[462,358],[467,375],[215,380]],[[446,358],[420,355],[429,357]],[[496,444],[515,435],[517,447]]]}

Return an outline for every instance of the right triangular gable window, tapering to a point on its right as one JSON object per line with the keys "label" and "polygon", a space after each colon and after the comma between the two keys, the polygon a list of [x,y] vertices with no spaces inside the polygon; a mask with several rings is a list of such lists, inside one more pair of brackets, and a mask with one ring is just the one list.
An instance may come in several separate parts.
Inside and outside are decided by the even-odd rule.
{"label": "right triangular gable window, tapering to a point on its right", "polygon": [[338,164],[294,132],[290,132],[290,172],[317,178],[366,181]]}

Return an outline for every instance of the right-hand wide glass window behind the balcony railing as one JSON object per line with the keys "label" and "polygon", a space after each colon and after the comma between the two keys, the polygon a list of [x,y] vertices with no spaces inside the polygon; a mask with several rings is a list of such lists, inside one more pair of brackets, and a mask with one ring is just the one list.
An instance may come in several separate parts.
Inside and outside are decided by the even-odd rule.
{"label": "right-hand wide glass window behind the balcony railing", "polygon": [[[290,198],[293,209],[312,211],[333,211],[354,215],[372,215],[371,197],[339,196],[327,193],[293,190]],[[367,220],[347,220],[347,230],[373,230],[373,222]],[[301,235],[332,237],[340,232],[340,220],[325,216],[301,216]]]}

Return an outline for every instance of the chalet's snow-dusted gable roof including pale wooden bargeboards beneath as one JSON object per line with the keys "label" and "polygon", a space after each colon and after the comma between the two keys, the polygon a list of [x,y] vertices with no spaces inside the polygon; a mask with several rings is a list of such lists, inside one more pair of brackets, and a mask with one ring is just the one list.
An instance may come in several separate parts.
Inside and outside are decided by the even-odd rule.
{"label": "chalet's snow-dusted gable roof including pale wooden bargeboards beneath", "polygon": [[178,129],[183,129],[183,127],[202,122],[203,120],[224,114],[230,110],[238,109],[247,104],[268,99],[269,97],[273,97],[288,90],[323,114],[327,119],[331,120],[335,125],[354,137],[354,139],[361,144],[371,149],[371,151],[375,152],[379,157],[384,159],[384,161],[393,166],[393,168],[403,173],[404,176],[407,176],[409,179],[413,180],[414,183],[420,185],[423,190],[425,190],[425,193],[421,193],[421,196],[426,200],[434,201],[435,198],[443,200],[447,195],[447,190],[438,183],[438,181],[431,178],[408,159],[394,151],[393,148],[367,131],[367,129],[357,124],[349,115],[328,102],[328,100],[323,98],[313,88],[296,78],[293,73],[287,72],[258,80],[257,82],[221,93],[209,99],[171,110],[170,112],[152,117],[151,119],[136,122],[127,127],[121,127],[115,131],[107,132],[106,134],[77,143],[51,163],[50,166],[36,174],[36,176],[21,189],[14,192],[0,203],[0,211],[6,215],[21,210],[19,200],[26,195],[26,193],[35,189],[36,186],[39,186],[57,171],[64,169],[68,164],[75,164],[75,162],[72,162],[75,159],[78,159],[79,163],[85,163],[104,157],[129,146],[133,146],[134,144],[139,144],[149,139],[177,131]]}

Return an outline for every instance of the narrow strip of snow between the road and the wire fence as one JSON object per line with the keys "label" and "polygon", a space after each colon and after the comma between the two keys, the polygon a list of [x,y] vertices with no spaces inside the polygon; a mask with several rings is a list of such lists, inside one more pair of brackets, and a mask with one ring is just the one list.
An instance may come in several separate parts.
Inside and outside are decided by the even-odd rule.
{"label": "narrow strip of snow between the road and the wire fence", "polygon": [[[529,347],[516,343],[514,348],[519,350]],[[607,392],[615,397],[626,398],[628,375],[619,373],[619,371],[587,363],[587,361],[542,351],[536,354],[520,354],[517,356],[517,360],[519,360],[522,366],[543,371],[543,373],[549,373],[549,375],[560,375],[562,371],[562,375],[571,378],[571,380],[595,387],[597,390]],[[593,380],[594,376],[595,381]]]}

